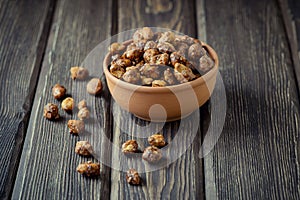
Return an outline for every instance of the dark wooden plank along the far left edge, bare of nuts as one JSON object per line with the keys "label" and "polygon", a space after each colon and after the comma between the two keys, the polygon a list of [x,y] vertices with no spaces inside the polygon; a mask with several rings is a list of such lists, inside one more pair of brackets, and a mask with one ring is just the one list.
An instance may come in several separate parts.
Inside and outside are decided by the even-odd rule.
{"label": "dark wooden plank along the far left edge, bare of nuts", "polygon": [[15,181],[53,6],[48,0],[0,3],[1,199],[10,197]]}

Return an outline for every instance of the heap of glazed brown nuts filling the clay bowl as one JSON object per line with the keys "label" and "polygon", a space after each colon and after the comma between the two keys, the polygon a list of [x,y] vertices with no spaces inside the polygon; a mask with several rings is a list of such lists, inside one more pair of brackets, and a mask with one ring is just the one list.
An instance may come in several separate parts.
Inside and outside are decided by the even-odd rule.
{"label": "heap of glazed brown nuts filling the clay bowl", "polygon": [[[128,43],[128,42],[127,42]],[[110,73],[128,83],[164,87],[192,81],[214,66],[198,39],[144,27],[130,44],[113,43]]]}

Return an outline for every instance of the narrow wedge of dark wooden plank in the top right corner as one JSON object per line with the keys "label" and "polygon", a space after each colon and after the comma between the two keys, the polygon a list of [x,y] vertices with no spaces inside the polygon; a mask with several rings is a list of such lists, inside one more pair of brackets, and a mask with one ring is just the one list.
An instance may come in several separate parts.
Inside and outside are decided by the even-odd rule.
{"label": "narrow wedge of dark wooden plank in the top right corner", "polygon": [[[295,75],[300,88],[300,2],[278,0],[289,40]],[[300,90],[299,90],[300,92]]]}

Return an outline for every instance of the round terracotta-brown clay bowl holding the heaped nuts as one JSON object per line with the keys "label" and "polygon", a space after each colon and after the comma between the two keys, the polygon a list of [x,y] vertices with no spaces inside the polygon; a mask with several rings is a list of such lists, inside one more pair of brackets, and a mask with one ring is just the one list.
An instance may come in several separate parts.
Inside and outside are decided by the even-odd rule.
{"label": "round terracotta-brown clay bowl holding the heaped nuts", "polygon": [[209,45],[204,42],[202,45],[215,66],[193,81],[166,87],[139,86],[114,77],[108,69],[111,57],[108,53],[103,70],[112,97],[121,108],[147,121],[174,121],[188,116],[210,98],[216,83],[218,56]]}

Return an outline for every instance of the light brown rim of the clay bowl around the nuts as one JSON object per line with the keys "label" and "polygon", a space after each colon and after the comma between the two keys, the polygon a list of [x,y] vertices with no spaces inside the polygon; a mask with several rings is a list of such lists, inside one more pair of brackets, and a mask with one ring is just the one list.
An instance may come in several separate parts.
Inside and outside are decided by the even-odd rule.
{"label": "light brown rim of the clay bowl around the nuts", "polygon": [[[124,41],[122,44],[126,45],[127,43],[130,43],[130,42],[132,42],[132,39]],[[170,85],[170,86],[165,86],[165,87],[149,87],[149,86],[143,86],[143,85],[135,85],[135,84],[123,81],[121,79],[118,79],[115,76],[113,76],[110,73],[110,71],[108,70],[110,57],[112,55],[110,52],[106,54],[106,56],[103,60],[103,71],[106,76],[106,79],[110,79],[114,84],[118,85],[118,87],[130,89],[130,90],[139,89],[140,92],[145,92],[145,93],[165,93],[165,92],[169,92],[170,90],[181,91],[181,90],[185,90],[185,89],[190,89],[191,87],[195,88],[196,86],[202,85],[202,84],[206,83],[208,80],[212,79],[215,76],[215,74],[217,73],[218,67],[219,67],[219,58],[218,58],[218,55],[215,52],[215,50],[211,46],[206,44],[205,42],[202,42],[202,41],[200,41],[200,42],[201,42],[202,46],[207,50],[210,57],[214,60],[214,63],[215,63],[214,67],[212,69],[210,69],[207,73],[202,75],[201,77],[199,77],[195,80],[186,82],[186,83]]]}

